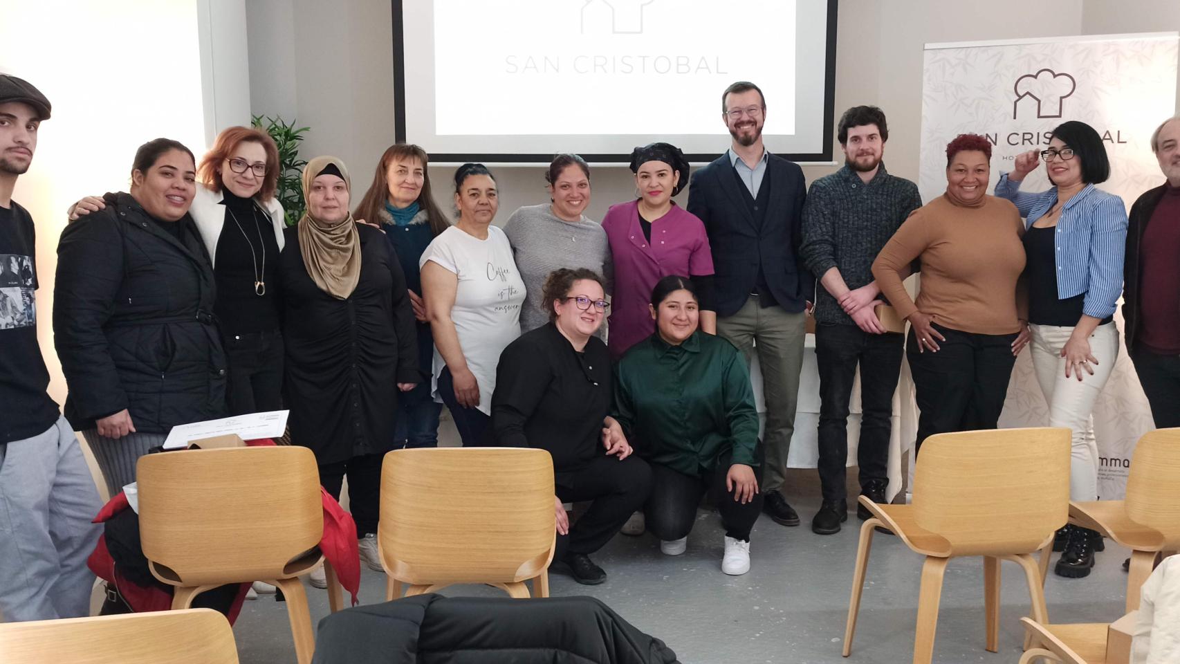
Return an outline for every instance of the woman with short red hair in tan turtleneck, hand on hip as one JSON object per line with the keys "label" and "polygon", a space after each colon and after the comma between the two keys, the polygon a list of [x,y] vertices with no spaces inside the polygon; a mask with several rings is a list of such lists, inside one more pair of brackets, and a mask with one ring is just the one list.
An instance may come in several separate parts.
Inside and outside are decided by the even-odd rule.
{"label": "woman with short red hair in tan turtleneck, hand on hip", "polygon": [[[946,192],[914,210],[873,262],[881,294],[910,321],[919,447],[931,434],[996,428],[1029,340],[1025,305],[1017,303],[1024,224],[1015,205],[986,193],[990,160],[986,138],[952,140]],[[917,301],[902,283],[914,261]]]}

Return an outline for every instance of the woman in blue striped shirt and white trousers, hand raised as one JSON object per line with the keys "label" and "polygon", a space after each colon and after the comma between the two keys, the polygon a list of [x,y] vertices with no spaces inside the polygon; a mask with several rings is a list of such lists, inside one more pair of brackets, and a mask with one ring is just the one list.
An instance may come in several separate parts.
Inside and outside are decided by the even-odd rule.
{"label": "woman in blue striped shirt and white trousers, hand raised", "polygon": [[[1020,183],[1044,159],[1048,191],[1022,193]],[[1127,208],[1095,188],[1110,175],[1106,147],[1094,129],[1068,121],[1053,130],[1047,150],[1016,157],[1001,175],[996,196],[1025,217],[1024,276],[1029,289],[1032,367],[1049,403],[1049,426],[1073,429],[1069,497],[1097,500],[1097,445],[1092,412],[1119,356],[1115,304],[1122,292]],[[1094,531],[1066,526],[1054,548],[1055,568],[1081,578],[1094,566]]]}

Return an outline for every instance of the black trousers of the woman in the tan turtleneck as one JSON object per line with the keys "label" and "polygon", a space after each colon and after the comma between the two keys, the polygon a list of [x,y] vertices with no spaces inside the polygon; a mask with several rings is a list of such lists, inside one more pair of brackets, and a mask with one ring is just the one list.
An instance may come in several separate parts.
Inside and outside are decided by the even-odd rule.
{"label": "black trousers of the woman in the tan turtleneck", "polygon": [[1004,409],[1016,357],[1016,334],[972,334],[935,326],[946,341],[940,349],[918,353],[910,330],[906,357],[917,392],[918,451],[927,436],[948,432],[994,429]]}

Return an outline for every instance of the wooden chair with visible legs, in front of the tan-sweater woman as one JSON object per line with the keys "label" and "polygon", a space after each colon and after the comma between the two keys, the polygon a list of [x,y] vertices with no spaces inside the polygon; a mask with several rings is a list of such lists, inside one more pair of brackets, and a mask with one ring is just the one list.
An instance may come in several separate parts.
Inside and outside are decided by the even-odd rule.
{"label": "wooden chair with visible legs, in front of the tan-sweater woman", "polygon": [[999,637],[999,560],[1028,578],[1032,617],[1048,623],[1037,564],[1030,555],[1053,539],[1069,512],[1069,429],[1025,428],[932,435],[914,468],[912,505],[860,502],[873,513],[860,527],[857,567],[844,633],[844,656],[860,609],[873,530],[884,526],[917,553],[922,567],[914,664],[929,664],[935,646],[943,572],[951,558],[983,555],[986,650]]}

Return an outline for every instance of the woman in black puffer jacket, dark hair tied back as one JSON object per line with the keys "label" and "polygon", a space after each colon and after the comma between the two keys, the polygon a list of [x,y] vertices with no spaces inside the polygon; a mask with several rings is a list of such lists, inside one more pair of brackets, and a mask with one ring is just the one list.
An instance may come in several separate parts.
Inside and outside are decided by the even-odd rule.
{"label": "woman in black puffer jacket, dark hair tied back", "polygon": [[225,415],[214,272],[189,216],[192,152],[166,138],[146,143],[131,183],[66,226],[53,290],[65,414],[111,495],[173,426]]}

